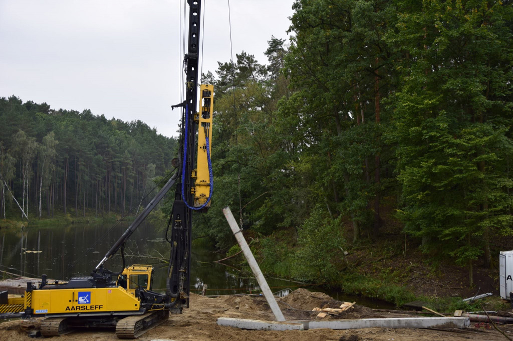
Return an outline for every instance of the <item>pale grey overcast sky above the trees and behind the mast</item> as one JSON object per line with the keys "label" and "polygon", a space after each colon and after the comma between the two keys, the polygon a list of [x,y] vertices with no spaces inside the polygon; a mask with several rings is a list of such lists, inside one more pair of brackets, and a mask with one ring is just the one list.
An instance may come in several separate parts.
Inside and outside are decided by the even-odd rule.
{"label": "pale grey overcast sky above the trees and behind the mast", "polygon": [[[287,38],[293,2],[231,0],[233,58],[244,50],[267,62],[271,35]],[[0,97],[141,119],[177,136],[180,111],[171,105],[180,102],[184,3],[0,0]],[[203,72],[214,72],[218,61],[230,60],[228,0],[203,5]]]}

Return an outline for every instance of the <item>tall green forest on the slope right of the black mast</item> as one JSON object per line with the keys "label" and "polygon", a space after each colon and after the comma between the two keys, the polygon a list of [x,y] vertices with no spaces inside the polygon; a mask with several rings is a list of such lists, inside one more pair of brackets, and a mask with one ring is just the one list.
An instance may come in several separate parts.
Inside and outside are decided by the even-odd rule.
{"label": "tall green forest on the slope right of the black mast", "polygon": [[328,281],[348,244],[380,238],[386,207],[413,247],[467,267],[472,285],[513,231],[511,2],[293,10],[266,65],[242,52],[203,75],[215,184],[195,233],[230,246],[230,206],[260,236],[264,268]]}

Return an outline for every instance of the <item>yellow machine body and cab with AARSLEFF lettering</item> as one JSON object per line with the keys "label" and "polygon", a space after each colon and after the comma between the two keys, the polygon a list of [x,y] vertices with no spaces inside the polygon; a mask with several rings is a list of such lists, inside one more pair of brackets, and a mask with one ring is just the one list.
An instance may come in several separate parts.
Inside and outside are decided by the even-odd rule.
{"label": "yellow machine body and cab with AARSLEFF lettering", "polygon": [[76,314],[135,312],[140,310],[140,299],[135,297],[138,288],[150,290],[153,267],[132,265],[123,271],[117,287],[106,288],[56,288],[36,289],[25,292],[25,308],[33,314]]}

